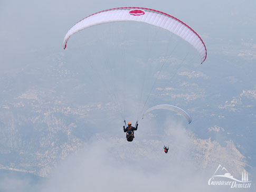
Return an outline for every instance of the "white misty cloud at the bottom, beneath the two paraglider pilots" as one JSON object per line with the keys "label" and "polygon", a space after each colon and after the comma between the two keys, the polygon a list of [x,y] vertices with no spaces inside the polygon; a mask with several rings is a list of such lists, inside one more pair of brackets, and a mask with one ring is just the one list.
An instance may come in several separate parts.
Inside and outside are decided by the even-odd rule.
{"label": "white misty cloud at the bottom, beneath the two paraglider pilots", "polygon": [[[102,135],[63,161],[42,191],[215,191],[207,186],[207,179],[219,161],[203,159],[202,151],[201,156],[192,155],[195,149],[202,148],[204,140],[195,139],[172,120],[166,121],[164,127],[166,135],[162,139],[138,134],[133,142],[127,142]],[[212,146],[208,140],[207,143]],[[164,145],[169,145],[167,154]],[[211,157],[211,153],[207,152],[207,156]],[[201,158],[200,165],[194,157]],[[214,168],[200,168],[205,162]]]}

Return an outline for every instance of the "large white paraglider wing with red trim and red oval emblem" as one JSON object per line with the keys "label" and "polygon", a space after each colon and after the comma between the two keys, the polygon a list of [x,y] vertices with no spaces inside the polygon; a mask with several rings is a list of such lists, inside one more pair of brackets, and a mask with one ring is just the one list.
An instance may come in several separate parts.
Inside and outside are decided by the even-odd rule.
{"label": "large white paraglider wing with red trim and red oval emblem", "polygon": [[164,28],[165,30],[182,37],[182,39],[193,45],[200,54],[201,64],[206,59],[207,51],[205,44],[201,37],[194,30],[192,30],[191,27],[166,13],[159,12],[154,9],[140,7],[112,8],[83,18],[83,20],[71,27],[68,33],[65,35],[63,47],[64,49],[66,48],[67,42],[71,35],[83,30],[84,28],[103,23],[120,21],[138,21]]}

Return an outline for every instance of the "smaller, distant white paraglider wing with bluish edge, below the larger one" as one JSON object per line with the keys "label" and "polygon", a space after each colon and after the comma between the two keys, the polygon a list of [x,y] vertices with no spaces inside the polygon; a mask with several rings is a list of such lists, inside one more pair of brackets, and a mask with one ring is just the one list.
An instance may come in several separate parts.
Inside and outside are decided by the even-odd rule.
{"label": "smaller, distant white paraglider wing with bluish edge, below the larger one", "polygon": [[191,123],[192,119],[191,117],[189,116],[189,114],[184,111],[183,109],[181,108],[178,108],[174,105],[170,105],[170,104],[160,104],[160,105],[156,105],[155,107],[151,107],[149,108],[144,114],[143,114],[143,118],[144,118],[144,115],[149,113],[150,111],[153,111],[153,110],[156,110],[156,109],[167,109],[167,110],[170,110],[170,111],[174,111],[178,114],[181,114],[183,117],[185,117],[188,121],[188,123]]}

